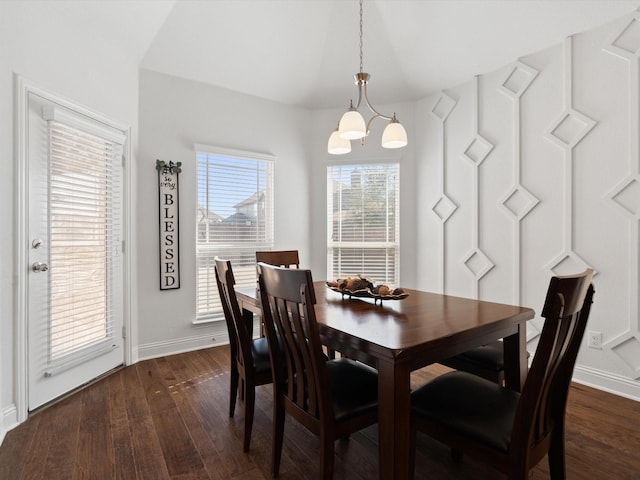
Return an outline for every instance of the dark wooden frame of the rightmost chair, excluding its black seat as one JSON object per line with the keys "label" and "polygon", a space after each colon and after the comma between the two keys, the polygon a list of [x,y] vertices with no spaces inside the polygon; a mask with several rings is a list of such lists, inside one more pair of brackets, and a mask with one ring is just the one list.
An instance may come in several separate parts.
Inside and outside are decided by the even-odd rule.
{"label": "dark wooden frame of the rightmost chair, excluding its black seat", "polygon": [[[593,302],[592,274],[587,270],[579,275],[551,279],[542,310],[545,323],[518,399],[508,451],[505,453],[474,441],[437,420],[414,415],[412,469],[415,468],[416,432],[423,431],[448,444],[454,458],[459,458],[460,454],[469,455],[506,473],[511,480],[525,480],[528,471],[547,454],[551,478],[565,478],[565,409],[571,376]],[[433,391],[425,390],[426,395],[429,393]]]}

